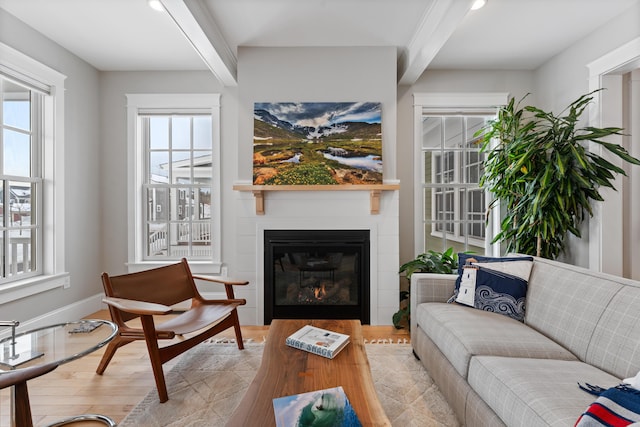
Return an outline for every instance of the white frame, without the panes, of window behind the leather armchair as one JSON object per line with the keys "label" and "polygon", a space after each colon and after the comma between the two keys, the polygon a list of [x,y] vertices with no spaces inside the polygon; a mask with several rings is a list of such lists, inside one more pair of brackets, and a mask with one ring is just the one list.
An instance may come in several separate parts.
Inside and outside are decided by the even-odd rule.
{"label": "white frame, without the panes, of window behind the leather armchair", "polygon": [[145,260],[144,212],[142,191],[145,182],[144,140],[139,116],[150,111],[173,113],[177,111],[208,110],[211,112],[212,177],[211,177],[211,251],[210,259],[190,260],[194,273],[219,274],[221,260],[221,187],[220,187],[220,94],[127,94],[128,143],[128,242],[127,266],[129,271],[141,271],[154,266],[175,263],[173,259]]}

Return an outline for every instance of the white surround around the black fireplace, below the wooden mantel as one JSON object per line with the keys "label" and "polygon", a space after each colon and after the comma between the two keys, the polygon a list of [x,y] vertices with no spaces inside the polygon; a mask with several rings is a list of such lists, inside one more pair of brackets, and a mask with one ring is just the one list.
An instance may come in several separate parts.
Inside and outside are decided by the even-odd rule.
{"label": "white surround around the black fireplace, below the wooden mantel", "polygon": [[[399,300],[398,191],[384,191],[378,215],[369,211],[369,193],[301,191],[270,194],[263,216],[255,215],[253,195],[236,192],[237,251],[253,276],[251,286],[237,295],[247,299],[239,309],[244,324],[264,324],[264,232],[265,230],[369,230],[370,321],[391,325]],[[252,260],[253,262],[249,262]],[[250,268],[253,265],[255,268]]]}

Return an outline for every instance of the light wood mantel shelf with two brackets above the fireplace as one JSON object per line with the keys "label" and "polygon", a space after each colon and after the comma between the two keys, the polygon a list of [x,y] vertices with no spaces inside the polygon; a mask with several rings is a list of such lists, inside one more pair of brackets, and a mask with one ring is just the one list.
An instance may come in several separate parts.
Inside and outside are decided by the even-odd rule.
{"label": "light wood mantel shelf with two brackets above the fireplace", "polygon": [[368,191],[371,214],[380,213],[380,193],[399,190],[399,184],[340,184],[340,185],[234,185],[236,191],[251,191],[256,198],[256,215],[264,215],[264,194],[268,191]]}

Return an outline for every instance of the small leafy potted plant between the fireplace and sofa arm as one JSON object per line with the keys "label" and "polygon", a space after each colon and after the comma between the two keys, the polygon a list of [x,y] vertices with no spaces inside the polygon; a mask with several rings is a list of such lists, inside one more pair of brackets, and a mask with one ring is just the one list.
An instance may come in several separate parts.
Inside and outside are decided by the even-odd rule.
{"label": "small leafy potted plant between the fireplace and sofa arm", "polygon": [[[400,266],[400,273],[405,273],[409,284],[413,273],[440,273],[452,274],[458,270],[458,255],[449,248],[444,252],[429,250],[422,253]],[[400,309],[393,314],[393,326],[396,329],[404,328],[404,323],[408,324],[410,313],[409,296],[410,290],[400,291]]]}

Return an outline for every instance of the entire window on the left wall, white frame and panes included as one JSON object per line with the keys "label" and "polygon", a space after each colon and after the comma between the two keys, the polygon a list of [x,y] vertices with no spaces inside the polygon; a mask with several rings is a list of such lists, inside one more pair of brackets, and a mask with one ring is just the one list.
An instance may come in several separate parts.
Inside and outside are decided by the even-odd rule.
{"label": "entire window on the left wall, white frame and panes included", "polygon": [[0,43],[0,304],[68,283],[64,79]]}

